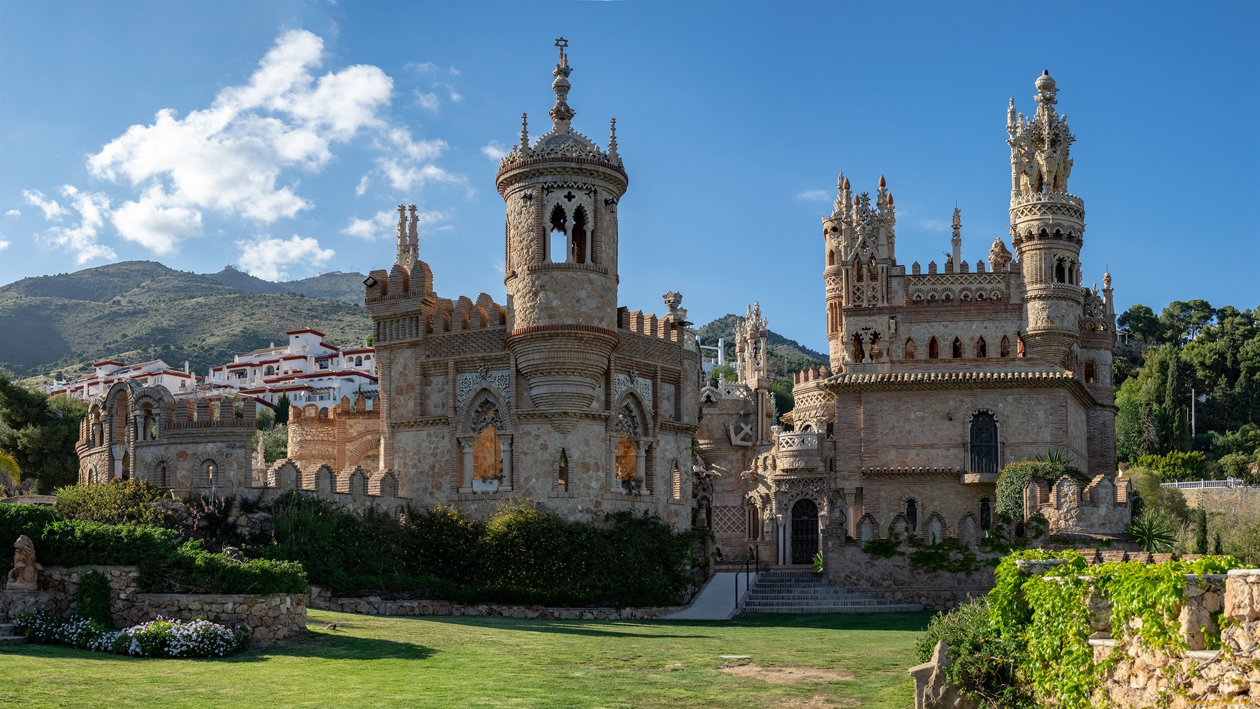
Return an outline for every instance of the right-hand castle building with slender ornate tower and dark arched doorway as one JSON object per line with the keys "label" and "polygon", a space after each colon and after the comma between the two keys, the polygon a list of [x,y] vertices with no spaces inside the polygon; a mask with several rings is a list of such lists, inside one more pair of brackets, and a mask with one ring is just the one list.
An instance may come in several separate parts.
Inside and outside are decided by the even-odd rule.
{"label": "right-hand castle building with slender ornate tower and dark arched doorway", "polygon": [[[1055,79],[1036,88],[1034,115],[1017,114],[1014,100],[1007,114],[1014,254],[999,236],[973,269],[955,209],[945,262],[907,269],[886,180],[872,196],[840,175],[820,245],[830,362],[795,376],[794,430],[765,431],[769,381],[755,356],[738,382],[702,394],[698,449],[718,473],[709,515],[736,558],[761,546],[762,559],[803,564],[829,537],[890,529],[975,540],[994,522],[1002,468],[1050,450],[1092,482],[1053,495],[1032,486],[1027,513],[1048,516],[1056,532],[1123,531],[1111,278],[1101,290],[1084,284],[1085,206],[1067,192],[1075,138],[1055,110]],[[764,329],[750,310],[740,347],[764,351]]]}

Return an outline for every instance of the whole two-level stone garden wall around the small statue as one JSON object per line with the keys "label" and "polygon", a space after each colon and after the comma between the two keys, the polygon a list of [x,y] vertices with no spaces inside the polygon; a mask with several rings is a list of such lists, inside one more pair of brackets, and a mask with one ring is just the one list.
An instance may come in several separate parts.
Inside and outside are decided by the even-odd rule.
{"label": "whole two-level stone garden wall around the small statue", "polygon": [[306,595],[276,593],[140,593],[137,566],[45,566],[39,574],[39,592],[0,592],[0,618],[45,611],[68,614],[74,611],[79,580],[88,571],[110,579],[110,614],[123,628],[158,616],[188,621],[207,616],[212,621],[249,628],[249,645],[270,645],[306,630]]}

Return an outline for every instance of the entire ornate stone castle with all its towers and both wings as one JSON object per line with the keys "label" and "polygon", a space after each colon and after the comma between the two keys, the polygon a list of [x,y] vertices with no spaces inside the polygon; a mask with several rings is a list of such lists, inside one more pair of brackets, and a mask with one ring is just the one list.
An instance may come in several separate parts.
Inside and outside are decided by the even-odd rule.
{"label": "entire ornate stone castle with all its towers and both wings", "polygon": [[[736,381],[709,385],[682,295],[667,293],[659,318],[617,305],[629,178],[615,120],[606,149],[573,130],[571,72],[562,48],[549,130],[532,140],[523,116],[495,177],[505,302],[438,296],[416,208],[399,206],[394,264],[364,281],[379,399],[362,410],[346,397],[294,407],[290,459],[266,467],[255,455],[247,473],[242,458],[238,487],[483,517],[509,498],[568,519],[653,513],[711,532],[724,560],[806,564],[890,530],[974,542],[995,524],[1002,468],[1057,450],[1091,482],[1031,483],[1026,515],[1055,532],[1124,529],[1111,281],[1084,285],[1085,208],[1067,192],[1075,138],[1048,73],[1036,81],[1036,112],[1017,114],[1012,100],[1007,115],[1013,252],[999,236],[973,269],[955,209],[945,262],[907,269],[885,179],[872,197],[840,175],[819,249],[830,362],[795,375],[795,409],[780,416],[760,307],[736,332]],[[120,404],[129,394],[139,404]],[[117,384],[93,404],[81,481],[132,468],[168,487],[214,479],[205,467],[218,459],[180,468],[178,486],[154,467],[156,453],[140,459],[158,448],[150,430],[189,442],[218,431],[233,442],[226,452],[241,448],[223,415],[175,416],[160,399]],[[171,424],[154,428],[145,406],[171,411]],[[139,448],[129,462],[130,440]]]}

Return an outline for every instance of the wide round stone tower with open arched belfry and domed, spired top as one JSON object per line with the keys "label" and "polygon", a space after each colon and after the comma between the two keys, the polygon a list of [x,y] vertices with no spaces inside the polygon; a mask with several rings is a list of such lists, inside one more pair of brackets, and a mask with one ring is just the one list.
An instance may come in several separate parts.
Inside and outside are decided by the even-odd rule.
{"label": "wide round stone tower with open arched belfry and domed, spired top", "polygon": [[619,342],[617,203],[629,183],[616,119],[606,151],[570,124],[567,44],[556,42],[551,130],[530,145],[522,115],[520,144],[495,177],[508,206],[508,347],[530,402],[549,410],[604,404],[596,394]]}

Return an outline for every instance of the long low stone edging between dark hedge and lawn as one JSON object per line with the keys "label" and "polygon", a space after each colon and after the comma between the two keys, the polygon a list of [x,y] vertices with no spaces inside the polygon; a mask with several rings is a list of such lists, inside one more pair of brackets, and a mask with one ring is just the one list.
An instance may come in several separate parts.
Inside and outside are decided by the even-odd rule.
{"label": "long low stone edging between dark hedge and lawn", "polygon": [[[312,606],[314,607],[314,606]],[[381,598],[331,598],[329,611],[364,616],[490,616],[548,621],[646,621],[683,609],[683,606],[653,608],[549,608],[507,603],[451,603],[449,601],[383,601]]]}

